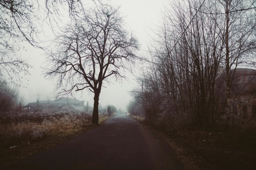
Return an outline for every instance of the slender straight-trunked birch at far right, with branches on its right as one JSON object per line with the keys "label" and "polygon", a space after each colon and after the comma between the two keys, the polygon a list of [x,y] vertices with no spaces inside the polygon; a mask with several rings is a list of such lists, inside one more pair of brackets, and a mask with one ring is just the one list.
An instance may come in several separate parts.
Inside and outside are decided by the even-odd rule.
{"label": "slender straight-trunked birch at far right, with branches on its right", "polygon": [[[254,56],[256,49],[256,12],[255,0],[221,0],[219,4],[225,9],[222,15],[225,23],[224,32],[221,35],[225,43],[225,68],[226,68],[226,107],[225,112],[230,114],[231,96],[230,87],[235,70],[239,66],[255,66]],[[218,23],[221,25],[222,23]],[[221,28],[221,26],[219,26]]]}

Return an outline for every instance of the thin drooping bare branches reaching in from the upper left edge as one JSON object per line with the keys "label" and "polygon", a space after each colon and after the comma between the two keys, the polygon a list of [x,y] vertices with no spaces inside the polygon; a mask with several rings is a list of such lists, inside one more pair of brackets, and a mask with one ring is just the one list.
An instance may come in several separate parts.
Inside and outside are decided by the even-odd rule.
{"label": "thin drooping bare branches reaching in from the upper left edge", "polygon": [[[0,0],[0,81],[20,86],[22,76],[29,74],[29,64],[16,56],[24,48],[20,43],[28,41],[37,46],[34,37],[38,29],[34,21],[38,20],[34,4],[24,0]],[[7,76],[4,78],[4,76]]]}

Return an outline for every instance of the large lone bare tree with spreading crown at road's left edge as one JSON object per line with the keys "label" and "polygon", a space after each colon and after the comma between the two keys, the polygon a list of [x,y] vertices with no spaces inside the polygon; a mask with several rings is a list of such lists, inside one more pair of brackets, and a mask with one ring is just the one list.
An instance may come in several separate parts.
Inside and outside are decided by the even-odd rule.
{"label": "large lone bare tree with spreading crown at road's left edge", "polygon": [[88,88],[94,93],[92,123],[98,123],[99,95],[103,83],[125,78],[124,70],[134,64],[137,39],[124,29],[119,8],[101,5],[86,11],[83,19],[64,28],[49,53],[47,78],[58,78],[60,95]]}

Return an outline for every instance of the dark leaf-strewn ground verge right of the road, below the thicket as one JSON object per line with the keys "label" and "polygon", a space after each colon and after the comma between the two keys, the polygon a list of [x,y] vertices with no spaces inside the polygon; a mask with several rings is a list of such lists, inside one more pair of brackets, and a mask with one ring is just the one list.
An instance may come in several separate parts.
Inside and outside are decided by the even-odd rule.
{"label": "dark leaf-strewn ground verge right of the road, below the thicket", "polygon": [[[144,118],[132,116],[147,124]],[[255,122],[244,131],[172,133],[157,124],[149,126],[176,152],[187,170],[253,170],[256,167]]]}

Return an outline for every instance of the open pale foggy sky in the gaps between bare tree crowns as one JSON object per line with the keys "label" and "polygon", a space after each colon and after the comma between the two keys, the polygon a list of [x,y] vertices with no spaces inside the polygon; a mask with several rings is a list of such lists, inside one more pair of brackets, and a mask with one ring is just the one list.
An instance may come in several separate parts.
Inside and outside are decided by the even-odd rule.
{"label": "open pale foggy sky in the gaps between bare tree crowns", "polygon": [[[39,1],[40,3],[44,3],[44,1]],[[133,34],[138,38],[139,43],[141,45],[140,55],[143,55],[145,51],[148,50],[147,45],[151,36],[154,36],[154,30],[157,27],[156,24],[161,20],[161,10],[164,7],[164,4],[167,3],[168,0],[111,0],[106,1],[103,0],[102,3],[110,3],[113,6],[121,6],[120,12],[124,16],[124,21],[126,23],[127,29],[132,31]],[[85,3],[85,7],[95,6],[93,1],[83,1]],[[96,4],[98,2],[95,2]],[[61,9],[62,17],[60,17],[61,22],[58,23],[58,26],[61,28],[65,23],[69,21],[68,11]],[[43,15],[43,11],[42,11]],[[43,25],[39,25],[43,32],[40,34],[40,39],[44,40],[44,47],[50,46],[49,40],[54,38],[54,34],[52,33],[51,28],[48,23],[44,22]],[[55,32],[58,32],[58,28],[55,25]],[[41,28],[39,28],[41,29]],[[25,96],[26,103],[28,102],[36,102],[38,97],[37,94],[40,94],[40,100],[46,100],[46,96],[50,95],[52,100],[56,94],[55,92],[55,82],[50,81],[44,78],[43,76],[43,68],[46,68],[45,64],[45,52],[42,49],[37,49],[29,45],[27,42],[22,42],[22,49],[18,55],[24,60],[28,62],[32,66],[29,68],[30,75],[23,75],[23,78],[26,78],[26,81],[23,81],[24,87],[19,87],[19,92]],[[128,79],[123,79],[121,81],[115,81],[113,78],[111,80],[111,84],[104,84],[103,86],[106,88],[102,88],[99,98],[99,104],[101,106],[106,105],[114,105],[117,108],[121,108],[123,111],[127,111],[126,105],[131,100],[131,96],[129,95],[129,91],[131,91],[135,86],[135,77],[139,72],[137,68],[139,68],[139,64],[135,65],[133,70],[133,75],[129,72],[126,72],[126,77]],[[89,101],[89,106],[93,106],[93,93],[88,92],[87,89],[83,91],[77,92],[74,96],[78,100]]]}

